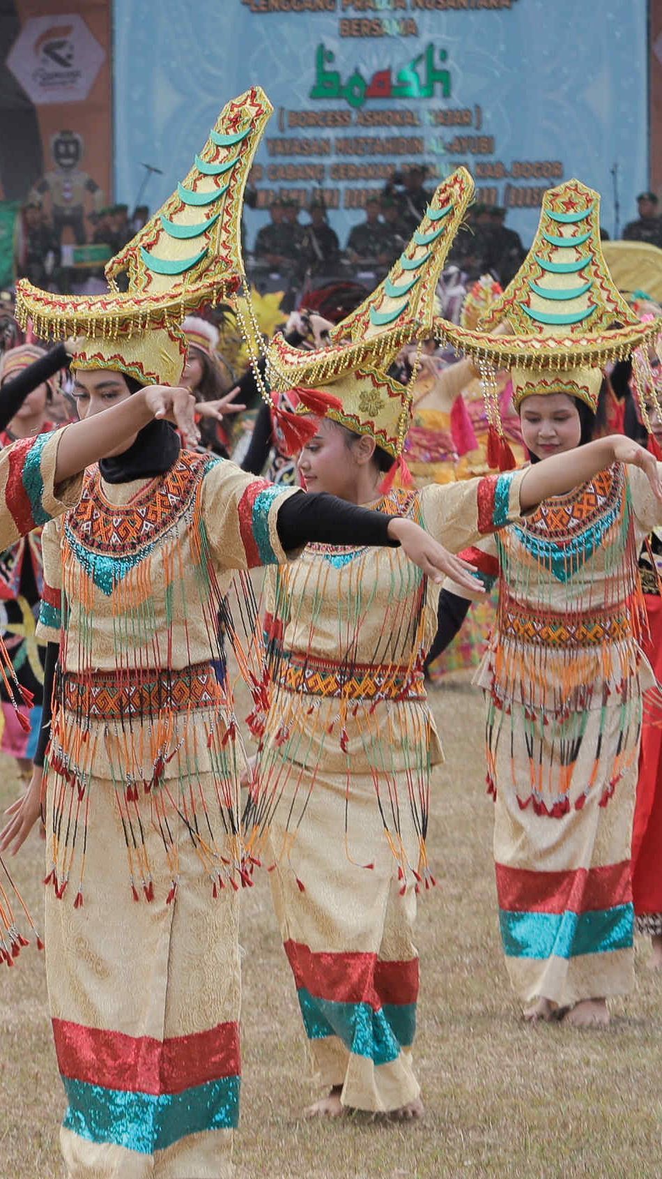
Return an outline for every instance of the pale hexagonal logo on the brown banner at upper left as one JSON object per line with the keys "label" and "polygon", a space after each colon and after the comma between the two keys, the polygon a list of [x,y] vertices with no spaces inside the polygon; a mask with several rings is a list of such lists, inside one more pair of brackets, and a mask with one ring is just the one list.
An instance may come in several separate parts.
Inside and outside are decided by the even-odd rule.
{"label": "pale hexagonal logo on the brown banner at upper left", "polygon": [[14,41],[7,65],[35,106],[87,98],[105,51],[82,17],[32,17]]}

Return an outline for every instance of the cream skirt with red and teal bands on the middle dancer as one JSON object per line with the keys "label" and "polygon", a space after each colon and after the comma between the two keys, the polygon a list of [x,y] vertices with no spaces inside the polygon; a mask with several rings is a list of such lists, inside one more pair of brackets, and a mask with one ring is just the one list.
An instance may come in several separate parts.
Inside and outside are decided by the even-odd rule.
{"label": "cream skirt with red and teal bands on the middle dancer", "polygon": [[[342,1086],[347,1107],[399,1108],[419,1094],[411,1058],[417,898],[411,882],[403,887],[398,880],[375,782],[352,775],[347,798],[340,775],[312,776],[285,762],[279,771],[272,764],[272,772],[282,773],[285,785],[265,863],[274,865],[273,903],[315,1080],[324,1088]],[[406,789],[402,773],[400,798]],[[296,832],[287,822],[294,795],[307,798]],[[400,805],[398,822],[416,863],[419,844],[409,806]]]}

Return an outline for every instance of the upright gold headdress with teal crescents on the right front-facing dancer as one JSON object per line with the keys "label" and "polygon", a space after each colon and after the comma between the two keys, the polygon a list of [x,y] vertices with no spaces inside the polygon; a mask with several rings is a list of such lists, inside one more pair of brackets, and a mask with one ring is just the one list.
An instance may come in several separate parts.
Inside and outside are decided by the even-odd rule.
{"label": "upright gold headdress with teal crescents on the right front-facing dancer", "polygon": [[[512,335],[495,335],[502,321]],[[512,374],[514,402],[568,393],[595,411],[602,367],[633,353],[648,356],[662,321],[642,323],[616,289],[600,239],[600,195],[581,180],[545,192],[537,233],[511,283],[481,328],[444,325],[444,336],[481,373],[490,421],[490,461],[511,465],[495,369]],[[648,381],[641,360],[641,378]],[[512,460],[514,462],[514,460]]]}

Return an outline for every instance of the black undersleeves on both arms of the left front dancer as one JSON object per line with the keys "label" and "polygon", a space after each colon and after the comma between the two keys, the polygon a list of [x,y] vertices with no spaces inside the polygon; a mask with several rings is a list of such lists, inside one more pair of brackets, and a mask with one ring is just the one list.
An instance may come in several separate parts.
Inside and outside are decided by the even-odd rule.
{"label": "black undersleeves on both arms of the left front dancer", "polygon": [[[397,548],[399,541],[389,536],[389,522],[396,519],[383,512],[362,508],[326,492],[291,495],[278,512],[278,539],[285,552],[292,552],[317,541],[320,545],[364,545]],[[44,765],[51,732],[53,684],[58,666],[59,644],[48,643],[44,668],[44,714],[34,756],[35,765]]]}

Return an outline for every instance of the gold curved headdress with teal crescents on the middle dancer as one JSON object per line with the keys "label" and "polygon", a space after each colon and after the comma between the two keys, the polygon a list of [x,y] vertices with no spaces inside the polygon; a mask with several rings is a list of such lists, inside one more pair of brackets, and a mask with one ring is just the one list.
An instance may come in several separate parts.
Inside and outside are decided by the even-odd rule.
{"label": "gold curved headdress with teal crescents on the middle dancer", "polygon": [[[404,344],[435,335],[437,282],[472,196],[474,180],[464,167],[439,184],[386,278],[331,329],[327,348],[299,351],[282,335],[269,348],[266,371],[274,390],[293,388],[300,409],[326,409],[333,421],[369,434],[397,466],[403,466],[411,393],[389,369]],[[324,409],[316,408],[315,394],[324,389],[335,396],[324,399]],[[302,436],[297,440],[294,432],[292,441],[300,446]]]}

